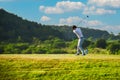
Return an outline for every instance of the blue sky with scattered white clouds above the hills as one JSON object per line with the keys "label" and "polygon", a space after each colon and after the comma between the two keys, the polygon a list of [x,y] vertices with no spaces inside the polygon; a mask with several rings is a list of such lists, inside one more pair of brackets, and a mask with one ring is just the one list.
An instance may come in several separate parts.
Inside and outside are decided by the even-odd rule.
{"label": "blue sky with scattered white clouds above the hills", "polygon": [[0,0],[0,8],[41,24],[120,33],[120,0]]}

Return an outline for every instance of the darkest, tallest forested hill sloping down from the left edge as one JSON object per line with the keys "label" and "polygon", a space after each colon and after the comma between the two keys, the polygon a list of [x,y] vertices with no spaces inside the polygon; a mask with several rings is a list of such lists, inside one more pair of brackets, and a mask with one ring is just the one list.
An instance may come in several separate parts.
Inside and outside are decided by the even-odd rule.
{"label": "darkest, tallest forested hill sloping down from the left edge", "polygon": [[63,34],[50,26],[23,20],[0,9],[0,41],[16,42],[21,38],[24,42],[31,42],[34,37],[46,40],[49,36],[63,39]]}

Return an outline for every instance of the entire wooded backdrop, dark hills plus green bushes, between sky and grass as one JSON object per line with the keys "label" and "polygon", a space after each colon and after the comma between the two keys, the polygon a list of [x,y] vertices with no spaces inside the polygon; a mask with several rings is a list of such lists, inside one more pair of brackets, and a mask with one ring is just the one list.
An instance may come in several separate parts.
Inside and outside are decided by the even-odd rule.
{"label": "entire wooded backdrop, dark hills plus green bushes, between sky and grass", "polygon": [[[120,53],[120,34],[82,28],[91,53]],[[75,53],[77,39],[67,25],[42,25],[0,9],[0,53]]]}

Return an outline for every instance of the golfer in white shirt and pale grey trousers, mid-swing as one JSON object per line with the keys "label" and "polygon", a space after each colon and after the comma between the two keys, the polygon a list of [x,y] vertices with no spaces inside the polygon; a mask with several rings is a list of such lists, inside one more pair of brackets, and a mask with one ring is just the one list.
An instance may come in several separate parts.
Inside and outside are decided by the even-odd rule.
{"label": "golfer in white shirt and pale grey trousers, mid-swing", "polygon": [[85,54],[87,54],[87,50],[84,50],[82,48],[82,44],[84,42],[84,36],[82,34],[82,31],[80,28],[78,28],[77,26],[73,25],[73,32],[76,34],[76,36],[78,37],[78,45],[77,45],[77,53],[76,55],[80,54],[80,51],[82,53],[82,55],[84,56]]}

